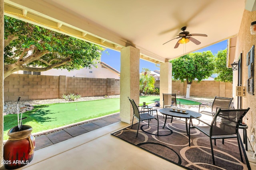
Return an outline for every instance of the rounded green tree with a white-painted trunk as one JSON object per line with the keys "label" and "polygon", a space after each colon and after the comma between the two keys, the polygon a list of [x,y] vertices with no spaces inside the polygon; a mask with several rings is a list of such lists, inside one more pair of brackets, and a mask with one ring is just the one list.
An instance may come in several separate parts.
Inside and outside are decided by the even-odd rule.
{"label": "rounded green tree with a white-painted trunk", "polygon": [[190,86],[193,80],[197,79],[200,82],[212,75],[214,70],[213,57],[211,51],[206,51],[190,53],[170,61],[173,78],[187,82],[186,98],[190,97]]}

